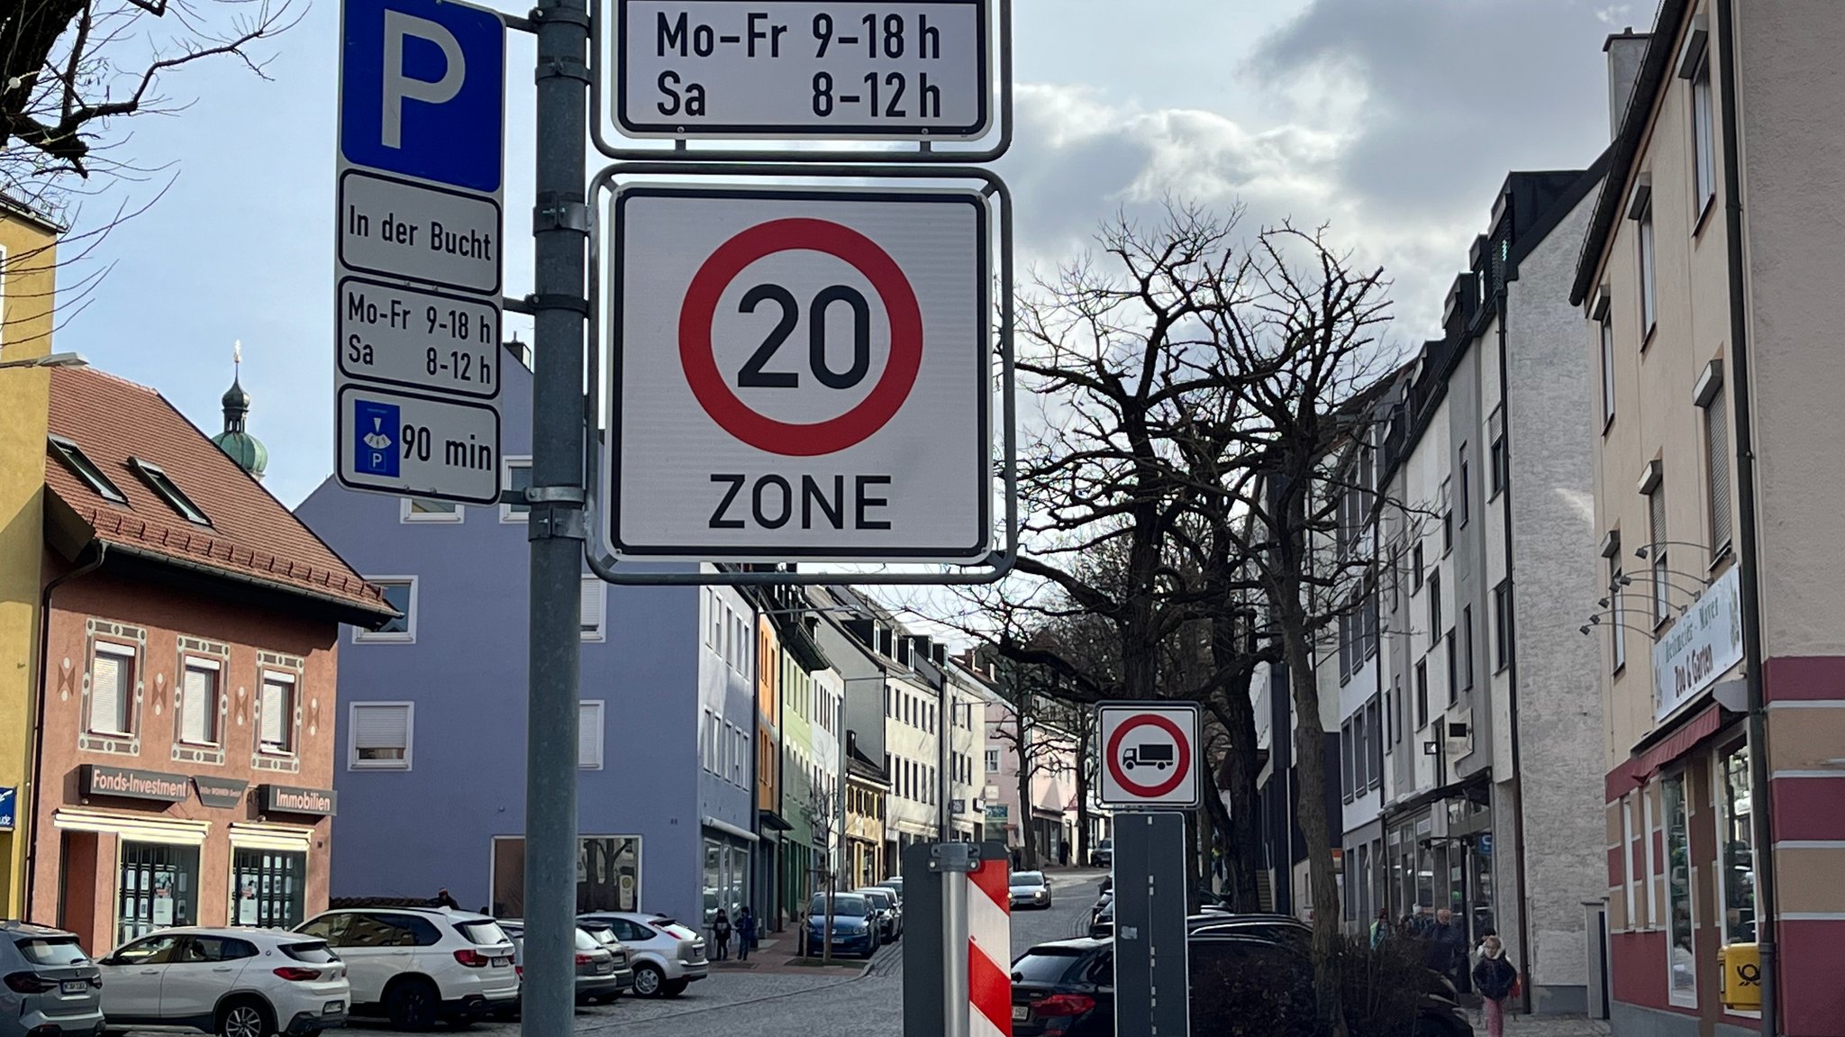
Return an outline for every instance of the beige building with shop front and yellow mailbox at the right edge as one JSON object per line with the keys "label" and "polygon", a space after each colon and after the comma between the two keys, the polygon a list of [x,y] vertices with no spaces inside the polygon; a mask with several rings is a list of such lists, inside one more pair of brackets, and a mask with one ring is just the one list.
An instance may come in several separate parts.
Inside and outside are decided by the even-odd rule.
{"label": "beige building with shop front and yellow mailbox at the right edge", "polygon": [[[1664,0],[1651,33],[1609,41],[1613,161],[1572,303],[1607,585],[1583,613],[1603,648],[1620,1035],[1817,1037],[1845,1019],[1838,15]],[[1760,1015],[1718,985],[1720,948],[1753,941]]]}

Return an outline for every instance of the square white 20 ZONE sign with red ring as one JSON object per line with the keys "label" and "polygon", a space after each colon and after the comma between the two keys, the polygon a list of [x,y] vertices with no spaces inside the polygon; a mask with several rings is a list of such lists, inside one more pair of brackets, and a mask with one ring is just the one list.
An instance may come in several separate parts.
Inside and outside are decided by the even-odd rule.
{"label": "square white 20 ZONE sign with red ring", "polygon": [[987,555],[980,192],[648,183],[613,205],[616,557]]}

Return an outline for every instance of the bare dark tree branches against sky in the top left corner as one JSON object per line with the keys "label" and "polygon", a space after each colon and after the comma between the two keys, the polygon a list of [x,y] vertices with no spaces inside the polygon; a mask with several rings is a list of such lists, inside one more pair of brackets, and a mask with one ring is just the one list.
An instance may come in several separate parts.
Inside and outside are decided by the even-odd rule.
{"label": "bare dark tree branches against sky in the top left corner", "polygon": [[162,77],[208,57],[264,76],[253,44],[299,20],[282,0],[9,0],[0,4],[0,192],[55,205],[63,175],[137,173],[111,124],[175,113]]}

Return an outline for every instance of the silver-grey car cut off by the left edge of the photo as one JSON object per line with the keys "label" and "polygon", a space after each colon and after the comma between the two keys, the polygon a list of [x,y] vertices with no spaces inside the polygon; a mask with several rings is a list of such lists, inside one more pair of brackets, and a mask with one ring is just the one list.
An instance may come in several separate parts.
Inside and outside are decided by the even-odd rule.
{"label": "silver-grey car cut off by the left edge of the photo", "polygon": [[77,934],[0,923],[0,1037],[101,1033],[101,976]]}

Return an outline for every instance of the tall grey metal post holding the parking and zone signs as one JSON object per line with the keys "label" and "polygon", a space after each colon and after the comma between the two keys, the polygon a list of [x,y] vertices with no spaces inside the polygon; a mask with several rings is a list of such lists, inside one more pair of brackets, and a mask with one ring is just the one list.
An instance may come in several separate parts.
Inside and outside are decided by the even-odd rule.
{"label": "tall grey metal post holding the parking and zone signs", "polygon": [[577,685],[583,579],[583,292],[589,4],[539,0],[533,238],[531,635],[526,721],[524,1031],[568,1037],[576,1006]]}

